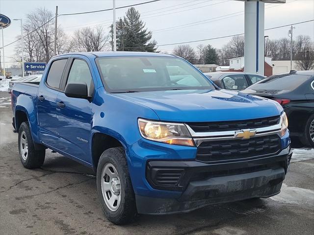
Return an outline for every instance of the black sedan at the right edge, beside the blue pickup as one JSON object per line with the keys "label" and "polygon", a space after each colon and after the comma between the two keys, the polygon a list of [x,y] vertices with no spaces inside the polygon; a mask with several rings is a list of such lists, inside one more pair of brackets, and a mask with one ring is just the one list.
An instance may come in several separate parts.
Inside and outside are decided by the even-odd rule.
{"label": "black sedan at the right edge, beside the blue pickup", "polygon": [[314,147],[314,71],[273,75],[241,92],[280,103],[288,117],[290,136]]}

